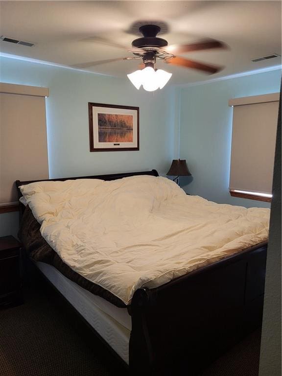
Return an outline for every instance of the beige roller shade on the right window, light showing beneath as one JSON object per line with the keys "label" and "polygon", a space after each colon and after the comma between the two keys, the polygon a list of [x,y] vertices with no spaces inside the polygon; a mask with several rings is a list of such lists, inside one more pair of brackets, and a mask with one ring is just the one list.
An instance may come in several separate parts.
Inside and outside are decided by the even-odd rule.
{"label": "beige roller shade on the right window, light showing beneath", "polygon": [[233,108],[230,191],[272,192],[279,94],[229,101]]}

